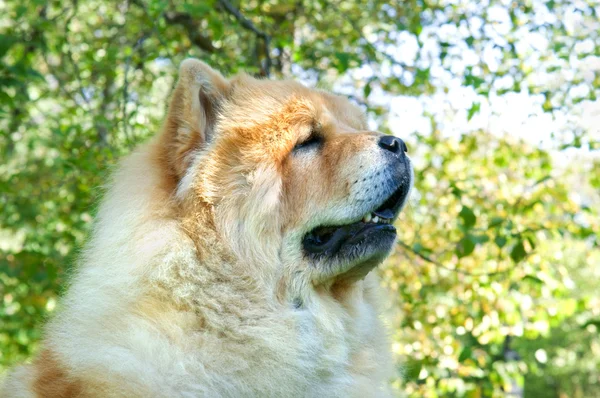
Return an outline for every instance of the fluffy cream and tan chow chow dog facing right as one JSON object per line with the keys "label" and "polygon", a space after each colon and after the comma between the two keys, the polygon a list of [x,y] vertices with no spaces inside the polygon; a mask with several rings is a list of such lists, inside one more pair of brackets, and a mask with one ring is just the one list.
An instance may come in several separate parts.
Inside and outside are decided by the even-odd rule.
{"label": "fluffy cream and tan chow chow dog facing right", "polygon": [[2,397],[386,396],[372,271],[413,173],[403,141],[294,81],[180,67]]}

